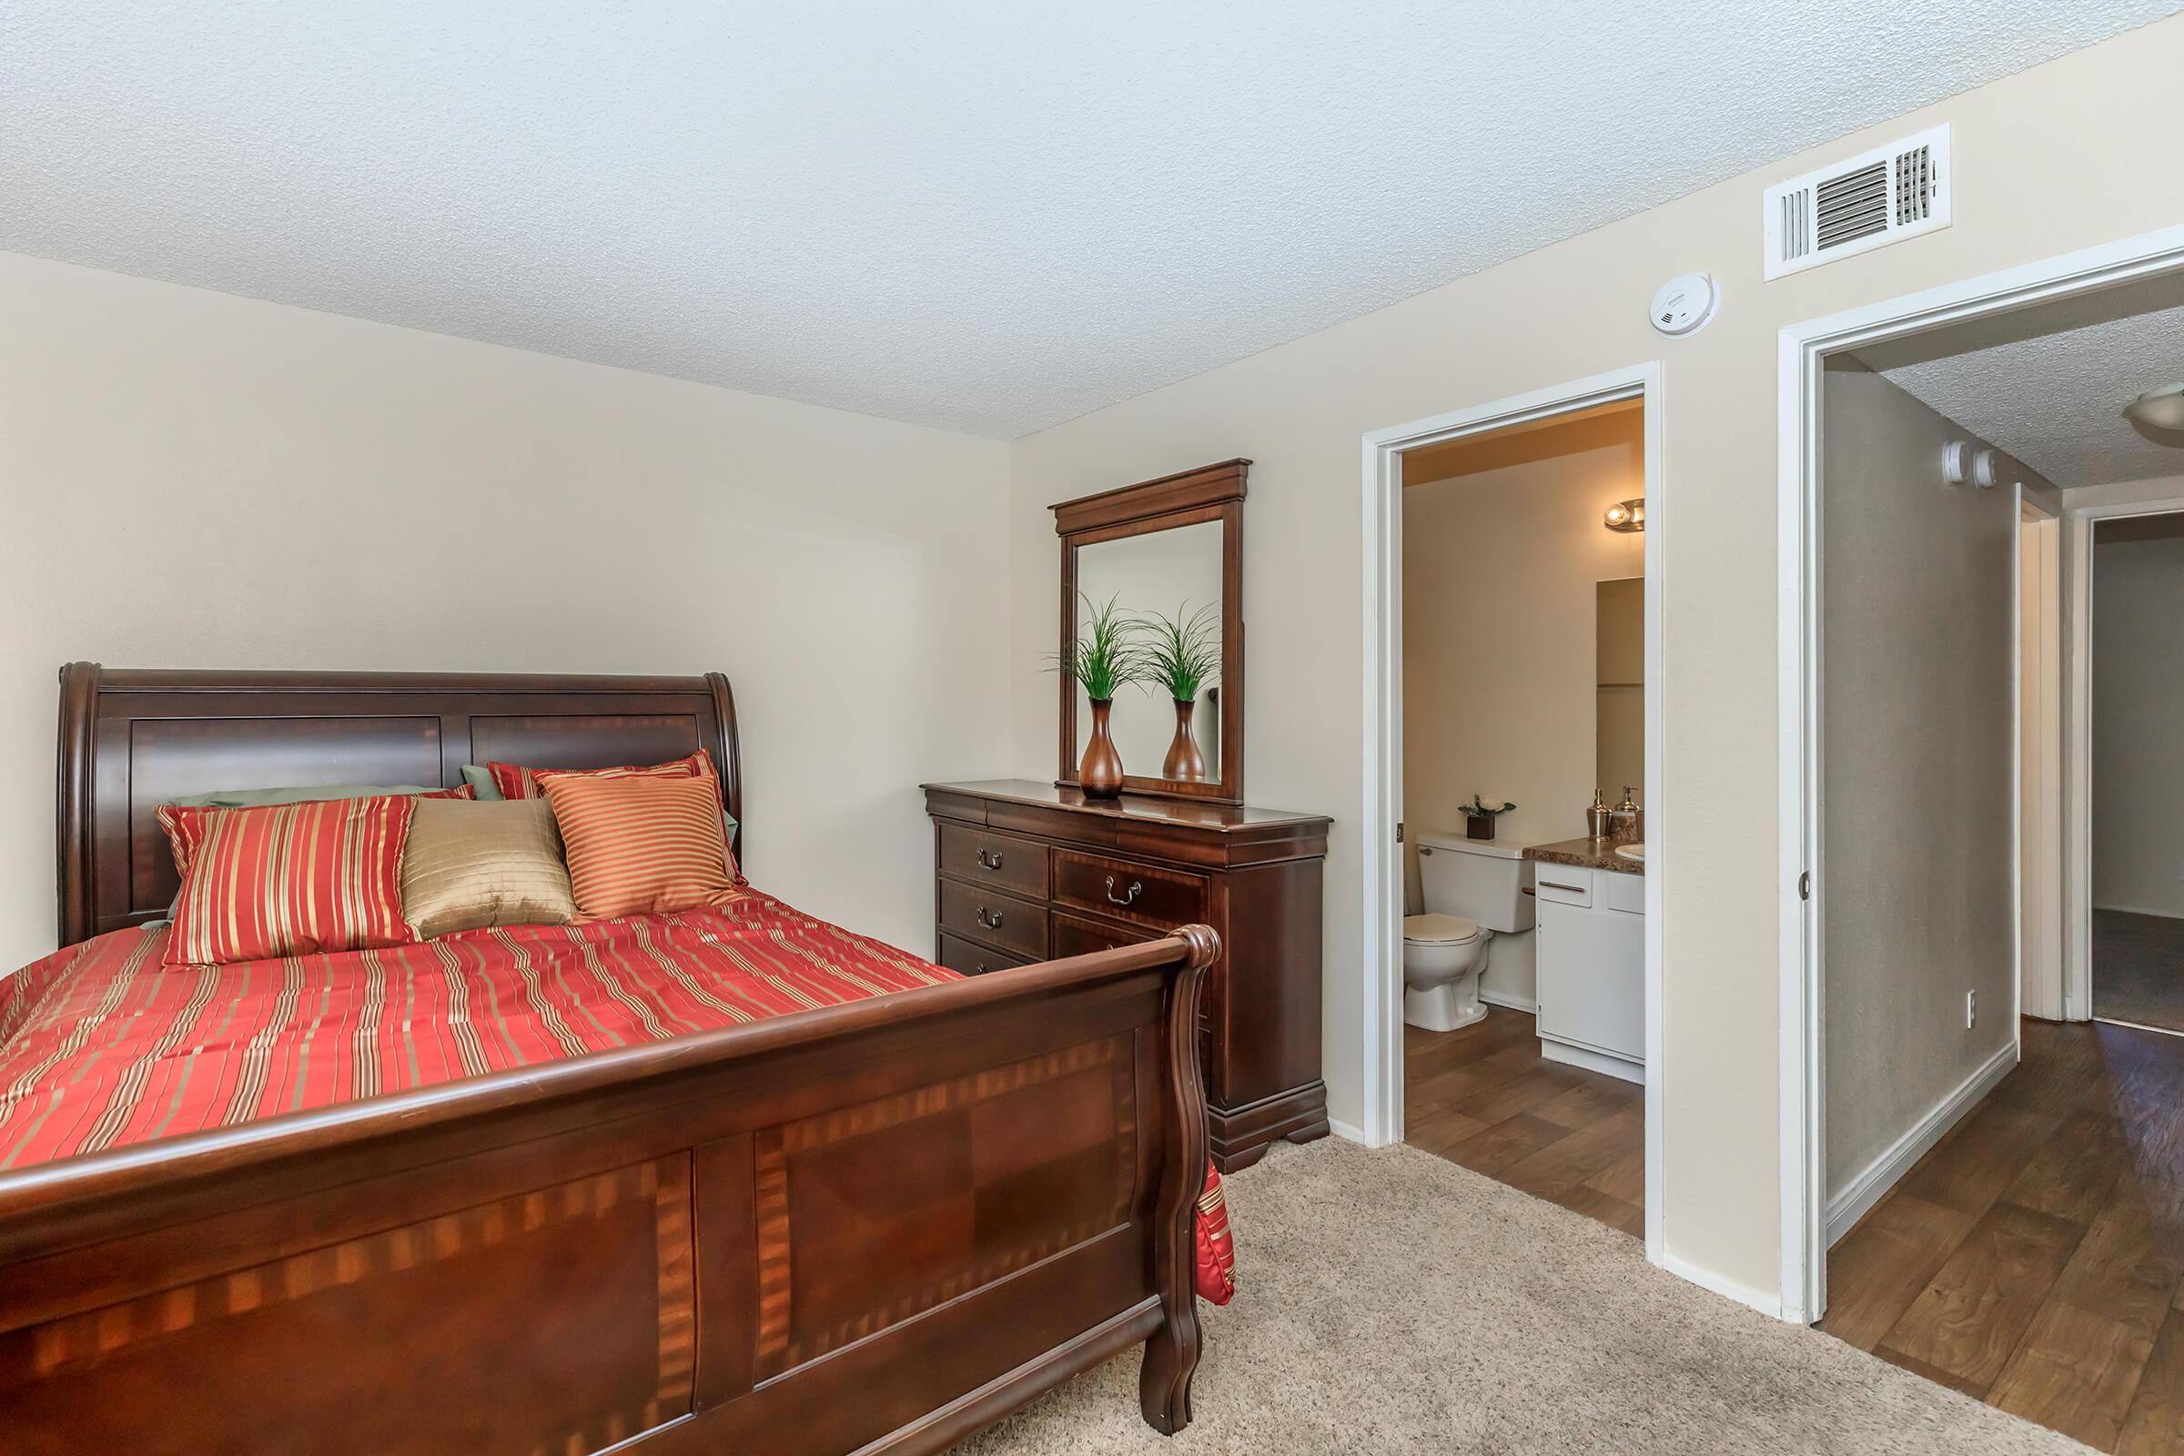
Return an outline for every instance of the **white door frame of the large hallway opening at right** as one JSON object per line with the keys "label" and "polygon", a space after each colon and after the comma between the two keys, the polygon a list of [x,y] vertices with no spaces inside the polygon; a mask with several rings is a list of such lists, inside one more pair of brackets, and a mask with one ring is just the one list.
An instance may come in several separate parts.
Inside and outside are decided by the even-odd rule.
{"label": "white door frame of the large hallway opening at right", "polygon": [[[1780,334],[1776,480],[1776,661],[1780,795],[1782,1009],[1782,1316],[1811,1323],[1828,1308],[1826,1041],[1819,897],[1819,380],[1828,354],[1948,323],[2011,312],[2184,268],[2184,227],[2164,227],[2062,258],[1867,303]],[[2073,808],[2073,823],[2077,810]],[[2084,849],[2086,840],[2075,840]],[[2079,856],[2068,856],[2079,860]],[[2084,875],[2084,864],[2066,864]],[[1806,895],[1806,886],[1811,893]]]}

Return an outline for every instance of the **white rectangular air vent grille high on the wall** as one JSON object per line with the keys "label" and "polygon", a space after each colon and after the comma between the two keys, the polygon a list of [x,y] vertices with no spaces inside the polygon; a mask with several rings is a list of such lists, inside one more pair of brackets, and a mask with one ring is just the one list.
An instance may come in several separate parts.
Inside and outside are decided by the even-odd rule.
{"label": "white rectangular air vent grille high on the wall", "polygon": [[1948,227],[1948,127],[1767,188],[1767,277]]}

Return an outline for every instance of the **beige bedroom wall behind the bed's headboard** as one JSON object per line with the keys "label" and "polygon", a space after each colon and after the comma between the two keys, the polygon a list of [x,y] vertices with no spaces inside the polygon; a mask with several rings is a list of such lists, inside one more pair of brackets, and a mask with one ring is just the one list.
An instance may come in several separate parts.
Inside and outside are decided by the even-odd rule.
{"label": "beige bedroom wall behind the bed's headboard", "polygon": [[917,781],[1009,751],[1005,445],[15,255],[0,306],[0,967],[72,657],[725,670],[753,880],[930,950]]}

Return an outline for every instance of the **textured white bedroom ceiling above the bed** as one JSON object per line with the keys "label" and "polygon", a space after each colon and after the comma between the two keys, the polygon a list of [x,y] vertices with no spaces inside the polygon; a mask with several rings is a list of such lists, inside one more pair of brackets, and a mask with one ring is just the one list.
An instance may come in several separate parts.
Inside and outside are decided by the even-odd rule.
{"label": "textured white bedroom ceiling above the bed", "polygon": [[0,249],[1013,437],[2180,4],[0,0]]}

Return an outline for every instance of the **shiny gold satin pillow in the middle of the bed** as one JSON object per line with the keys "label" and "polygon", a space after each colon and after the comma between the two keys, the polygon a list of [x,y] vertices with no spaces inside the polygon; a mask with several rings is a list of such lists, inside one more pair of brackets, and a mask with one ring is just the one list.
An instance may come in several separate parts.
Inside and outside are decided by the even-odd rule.
{"label": "shiny gold satin pillow in the middle of the bed", "polygon": [[402,917],[424,941],[577,919],[553,808],[544,799],[419,799],[402,847]]}

